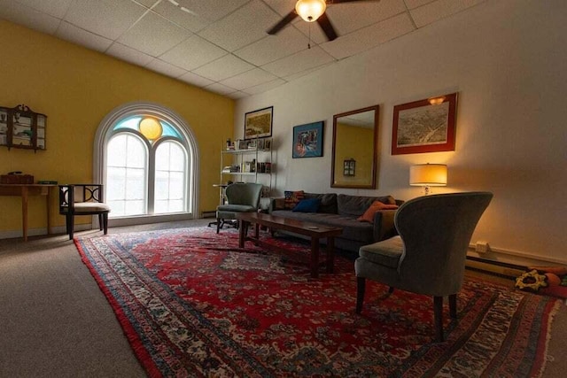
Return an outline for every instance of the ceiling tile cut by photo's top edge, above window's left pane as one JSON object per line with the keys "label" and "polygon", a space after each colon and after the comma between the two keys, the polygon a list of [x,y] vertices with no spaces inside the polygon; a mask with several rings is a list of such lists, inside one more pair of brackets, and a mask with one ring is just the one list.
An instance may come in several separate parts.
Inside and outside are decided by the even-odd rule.
{"label": "ceiling tile cut by photo's top edge, above window's left pane", "polygon": [[142,5],[131,1],[75,0],[65,20],[83,30],[115,40],[146,11]]}

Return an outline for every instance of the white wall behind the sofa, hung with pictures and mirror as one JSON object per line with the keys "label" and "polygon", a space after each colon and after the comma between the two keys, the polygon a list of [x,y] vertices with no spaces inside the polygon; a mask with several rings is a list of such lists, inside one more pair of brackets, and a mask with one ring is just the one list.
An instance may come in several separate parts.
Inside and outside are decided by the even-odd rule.
{"label": "white wall behind the sofa, hung with pictures and mirror", "polygon": [[[276,189],[361,195],[421,195],[409,166],[446,163],[447,188],[490,190],[493,202],[472,242],[497,251],[567,262],[567,2],[490,0],[237,102],[245,112],[274,106]],[[392,108],[459,93],[456,149],[392,156]],[[330,188],[332,116],[380,105],[376,190]],[[325,120],[322,158],[291,158],[292,127]],[[488,258],[499,258],[498,254]]]}

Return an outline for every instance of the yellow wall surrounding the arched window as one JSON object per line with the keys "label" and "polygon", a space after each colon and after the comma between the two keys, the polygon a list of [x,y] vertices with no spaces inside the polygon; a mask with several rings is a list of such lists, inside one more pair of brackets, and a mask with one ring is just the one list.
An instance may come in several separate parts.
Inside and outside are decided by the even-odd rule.
{"label": "yellow wall surrounding the arched window", "polygon": [[[48,116],[46,150],[0,147],[0,174],[22,171],[37,180],[91,182],[93,142],[101,120],[134,101],[178,113],[198,142],[199,209],[218,204],[220,151],[233,135],[234,101],[159,73],[0,20],[0,106],[26,104]],[[30,199],[28,227],[45,228],[43,198]],[[0,197],[0,232],[20,230],[18,198]],[[57,201],[51,224],[64,225]]]}

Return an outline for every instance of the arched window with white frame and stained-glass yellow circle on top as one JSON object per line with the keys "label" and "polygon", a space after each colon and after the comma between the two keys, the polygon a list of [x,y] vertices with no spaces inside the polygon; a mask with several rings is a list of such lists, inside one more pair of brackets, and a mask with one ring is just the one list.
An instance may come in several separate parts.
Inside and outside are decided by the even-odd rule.
{"label": "arched window with white frame and stained-glass yellow circle on top", "polygon": [[110,224],[196,218],[197,160],[190,128],[174,112],[140,103],[111,112],[95,140]]}

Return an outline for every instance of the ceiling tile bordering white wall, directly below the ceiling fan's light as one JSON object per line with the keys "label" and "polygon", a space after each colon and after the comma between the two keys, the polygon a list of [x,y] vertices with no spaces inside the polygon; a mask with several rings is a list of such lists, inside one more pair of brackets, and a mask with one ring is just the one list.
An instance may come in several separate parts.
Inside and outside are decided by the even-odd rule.
{"label": "ceiling tile bordering white wall, directly below the ceiling fan's light", "polygon": [[315,46],[311,49],[299,51],[289,57],[285,57],[275,62],[262,66],[268,73],[274,73],[276,76],[289,76],[293,73],[299,73],[316,66],[322,66],[333,61],[333,58],[323,51],[320,47]]}

